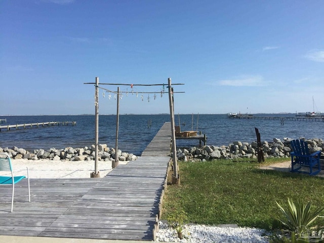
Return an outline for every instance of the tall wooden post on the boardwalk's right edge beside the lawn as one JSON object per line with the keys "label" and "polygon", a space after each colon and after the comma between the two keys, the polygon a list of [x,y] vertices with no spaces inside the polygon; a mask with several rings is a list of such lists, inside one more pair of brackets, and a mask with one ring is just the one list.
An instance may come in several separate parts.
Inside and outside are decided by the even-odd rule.
{"label": "tall wooden post on the boardwalk's right edge beside the lawn", "polygon": [[174,108],[173,108],[173,92],[171,89],[171,78],[168,78],[169,84],[169,103],[170,103],[170,118],[171,118],[171,132],[172,132],[172,153],[173,153],[173,176],[172,184],[180,184],[180,179],[178,175],[178,165],[177,165],[177,146],[176,146],[176,133],[175,133],[175,123],[174,123]]}

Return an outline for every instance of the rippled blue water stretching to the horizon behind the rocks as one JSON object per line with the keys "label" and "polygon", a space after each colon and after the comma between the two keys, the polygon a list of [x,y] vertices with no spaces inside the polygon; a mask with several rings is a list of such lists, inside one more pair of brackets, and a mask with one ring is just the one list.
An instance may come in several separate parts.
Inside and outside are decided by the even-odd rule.
{"label": "rippled blue water stretching to the horizon behind the rocks", "polygon": [[[257,116],[257,115],[255,115]],[[295,114],[259,114],[258,116],[288,116]],[[19,129],[0,132],[0,147],[61,149],[68,146],[77,148],[90,146],[95,140],[94,115],[49,115],[49,116],[0,116],[7,118],[7,124],[41,123],[45,121],[76,121],[76,126],[53,126],[32,129]],[[152,126],[148,128],[148,120]],[[160,127],[170,121],[170,115],[120,115],[118,148],[125,152],[140,155],[153,139]],[[179,124],[178,114],[175,116]],[[255,127],[259,129],[261,140],[272,141],[273,138],[322,138],[324,139],[324,123],[315,121],[280,120],[245,120],[227,119],[221,114],[180,115],[181,130],[197,130],[207,134],[209,145],[228,145],[233,141],[249,142],[256,140]],[[197,129],[198,128],[198,129]],[[116,116],[99,116],[99,143],[108,147],[115,146]],[[198,145],[198,140],[178,140],[177,146]]]}

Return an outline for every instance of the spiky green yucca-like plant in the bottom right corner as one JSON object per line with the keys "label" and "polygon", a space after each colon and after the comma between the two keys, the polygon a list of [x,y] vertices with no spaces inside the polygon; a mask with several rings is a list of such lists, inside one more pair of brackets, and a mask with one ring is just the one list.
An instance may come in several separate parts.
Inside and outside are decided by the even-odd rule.
{"label": "spiky green yucca-like plant in the bottom right corner", "polygon": [[277,201],[276,204],[284,214],[279,221],[287,227],[292,236],[296,236],[297,242],[318,242],[320,239],[318,233],[322,233],[323,226],[315,225],[315,221],[324,208],[311,212],[311,202],[305,204],[298,199],[295,204],[290,198],[288,198],[288,209],[281,207]]}

